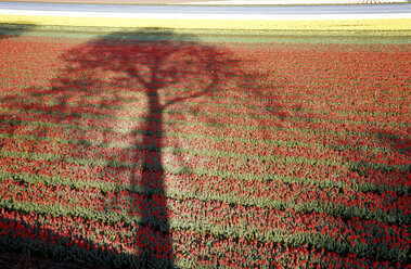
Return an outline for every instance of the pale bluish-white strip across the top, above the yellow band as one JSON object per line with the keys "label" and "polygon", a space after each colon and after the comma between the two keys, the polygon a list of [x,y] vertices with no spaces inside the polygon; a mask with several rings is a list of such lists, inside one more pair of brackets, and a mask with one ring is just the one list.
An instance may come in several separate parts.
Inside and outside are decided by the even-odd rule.
{"label": "pale bluish-white strip across the top, above the yellow band", "polygon": [[410,18],[411,4],[221,7],[0,2],[0,14],[188,20]]}

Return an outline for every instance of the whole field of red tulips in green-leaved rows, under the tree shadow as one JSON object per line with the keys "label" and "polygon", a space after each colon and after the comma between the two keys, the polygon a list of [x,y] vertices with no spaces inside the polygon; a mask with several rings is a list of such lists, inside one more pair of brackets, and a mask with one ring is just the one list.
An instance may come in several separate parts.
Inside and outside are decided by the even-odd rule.
{"label": "whole field of red tulips in green-leaved rows, under the tree shadow", "polygon": [[0,36],[0,249],[411,268],[411,46]]}

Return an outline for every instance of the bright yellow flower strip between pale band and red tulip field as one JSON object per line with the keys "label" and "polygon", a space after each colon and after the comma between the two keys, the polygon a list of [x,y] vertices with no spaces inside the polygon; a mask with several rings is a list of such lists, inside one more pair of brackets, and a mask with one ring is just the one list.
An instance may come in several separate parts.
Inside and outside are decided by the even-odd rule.
{"label": "bright yellow flower strip between pale band and red tulip field", "polygon": [[170,20],[170,18],[105,18],[36,15],[0,15],[0,24],[29,24],[34,26],[101,26],[139,28],[192,28],[192,29],[244,29],[283,30],[304,35],[356,35],[371,31],[381,36],[410,36],[411,18],[384,20],[304,20],[304,21],[242,21],[242,20]]}

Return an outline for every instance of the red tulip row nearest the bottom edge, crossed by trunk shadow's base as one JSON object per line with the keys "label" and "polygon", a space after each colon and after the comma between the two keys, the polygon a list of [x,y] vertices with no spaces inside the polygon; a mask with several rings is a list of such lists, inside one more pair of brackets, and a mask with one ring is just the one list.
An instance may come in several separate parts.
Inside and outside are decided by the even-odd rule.
{"label": "red tulip row nearest the bottom edge, crossed by trunk shadow's base", "polygon": [[[18,247],[37,243],[38,248],[48,249],[50,255],[61,246],[70,253],[79,247],[84,252],[82,260],[100,260],[113,264],[116,256],[125,257],[132,264],[132,259],[141,262],[155,256],[157,262],[174,257],[181,267],[214,266],[219,264],[229,268],[244,268],[256,266],[272,266],[288,268],[296,265],[305,268],[397,268],[400,262],[373,261],[355,254],[338,255],[324,248],[304,246],[287,246],[275,242],[259,242],[243,238],[216,236],[207,232],[193,230],[174,230],[169,236],[164,236],[150,227],[127,226],[119,222],[116,227],[79,217],[55,217],[51,215],[24,214],[2,212],[0,214],[0,240],[5,236],[18,238],[10,242]],[[138,232],[136,232],[136,230]],[[121,240],[115,240],[121,239]],[[172,254],[171,246],[172,245]],[[26,246],[27,247],[27,246]],[[27,247],[29,248],[29,247]],[[153,249],[153,251],[146,251]],[[114,255],[113,255],[114,254]],[[130,255],[131,254],[131,255]],[[56,254],[54,254],[56,255]],[[78,255],[78,254],[77,254]],[[90,257],[90,256],[94,257]],[[112,258],[112,260],[107,260]],[[123,264],[125,264],[123,260]],[[402,264],[403,265],[403,264]]]}

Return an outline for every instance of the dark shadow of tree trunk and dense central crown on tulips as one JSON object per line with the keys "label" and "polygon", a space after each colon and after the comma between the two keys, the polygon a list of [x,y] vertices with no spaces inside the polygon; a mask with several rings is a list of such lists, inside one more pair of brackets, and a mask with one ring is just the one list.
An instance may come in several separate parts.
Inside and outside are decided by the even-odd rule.
{"label": "dark shadow of tree trunk and dense central crown on tulips", "polygon": [[[140,133],[141,140],[136,140],[132,145],[136,153],[132,156],[130,185],[126,189],[133,197],[137,197],[137,193],[142,194],[138,198],[130,197],[130,215],[139,216],[139,223],[143,227],[140,232],[144,233],[149,227],[159,243],[140,244],[138,253],[141,255],[141,265],[151,268],[155,267],[156,261],[163,260],[159,262],[163,268],[171,268],[172,243],[164,182],[164,114],[175,104],[215,94],[219,90],[220,77],[232,74],[237,61],[231,59],[228,52],[218,52],[211,46],[181,41],[183,37],[171,31],[162,34],[165,40],[154,42],[117,39],[123,36],[123,33],[115,33],[103,37],[92,42],[90,50],[81,52],[81,48],[80,51],[76,49],[68,57],[75,55],[78,59],[70,65],[77,66],[79,71],[94,68],[121,74],[123,77],[112,79],[108,85],[128,80],[126,84],[129,84],[131,91],[145,97],[144,115],[139,125],[131,127],[131,132]],[[196,79],[203,84],[197,88],[190,86],[190,82],[198,85]],[[130,80],[133,81],[131,86]],[[177,94],[176,89],[179,92]],[[114,100],[110,105],[118,104],[120,98],[117,95]],[[136,172],[138,170],[140,172]],[[137,212],[132,209],[136,203],[139,204]]]}

